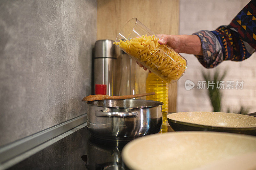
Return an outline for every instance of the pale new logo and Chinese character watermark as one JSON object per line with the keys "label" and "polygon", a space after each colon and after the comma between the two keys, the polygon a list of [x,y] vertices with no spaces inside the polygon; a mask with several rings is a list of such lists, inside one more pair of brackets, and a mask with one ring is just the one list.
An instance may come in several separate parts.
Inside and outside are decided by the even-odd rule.
{"label": "pale new logo and Chinese character watermark", "polygon": [[[217,82],[213,82],[213,81],[197,81],[197,86],[196,89],[197,90],[204,90],[204,89],[220,89],[220,90],[224,90],[224,89],[236,89],[236,90],[242,90],[243,89],[243,85],[244,85],[244,81],[217,81]],[[186,80],[185,82],[185,88],[186,90],[190,90],[190,89],[194,89],[194,82],[190,81],[190,80]]]}

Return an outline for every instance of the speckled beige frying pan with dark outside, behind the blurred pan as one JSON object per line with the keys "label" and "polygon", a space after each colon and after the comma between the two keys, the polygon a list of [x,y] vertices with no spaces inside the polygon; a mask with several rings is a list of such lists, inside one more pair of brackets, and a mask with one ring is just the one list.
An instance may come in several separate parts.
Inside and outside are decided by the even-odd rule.
{"label": "speckled beige frying pan with dark outside, behind the blurred pan", "polygon": [[167,115],[174,131],[219,131],[256,135],[256,117],[222,112],[179,112]]}

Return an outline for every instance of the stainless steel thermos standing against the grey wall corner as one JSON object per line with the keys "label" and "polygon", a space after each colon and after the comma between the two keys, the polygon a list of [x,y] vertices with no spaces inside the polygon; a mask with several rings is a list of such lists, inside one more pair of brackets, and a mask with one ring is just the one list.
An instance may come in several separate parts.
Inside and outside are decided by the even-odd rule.
{"label": "stainless steel thermos standing against the grey wall corner", "polygon": [[116,64],[115,45],[112,40],[95,42],[93,55],[93,94],[95,85],[107,85],[107,95],[113,95],[114,69]]}

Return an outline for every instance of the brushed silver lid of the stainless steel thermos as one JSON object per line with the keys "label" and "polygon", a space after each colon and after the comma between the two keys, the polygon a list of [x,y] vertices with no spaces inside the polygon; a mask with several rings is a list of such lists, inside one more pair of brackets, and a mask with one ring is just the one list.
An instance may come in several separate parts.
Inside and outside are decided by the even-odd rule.
{"label": "brushed silver lid of the stainless steel thermos", "polygon": [[116,58],[113,40],[98,40],[94,46],[94,58]]}

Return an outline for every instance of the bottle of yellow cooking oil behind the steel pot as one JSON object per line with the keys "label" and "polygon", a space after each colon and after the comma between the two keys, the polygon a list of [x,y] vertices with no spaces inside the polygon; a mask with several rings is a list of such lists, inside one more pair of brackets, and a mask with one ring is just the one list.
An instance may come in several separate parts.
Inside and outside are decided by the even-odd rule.
{"label": "bottle of yellow cooking oil behind the steel pot", "polygon": [[163,126],[159,133],[167,132],[167,113],[168,113],[168,90],[169,85],[154,73],[148,73],[146,80],[146,92],[155,92],[155,95],[147,96],[147,100],[156,100],[164,103],[163,105]]}

